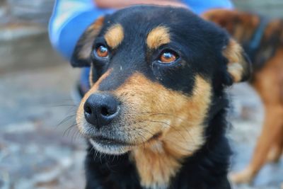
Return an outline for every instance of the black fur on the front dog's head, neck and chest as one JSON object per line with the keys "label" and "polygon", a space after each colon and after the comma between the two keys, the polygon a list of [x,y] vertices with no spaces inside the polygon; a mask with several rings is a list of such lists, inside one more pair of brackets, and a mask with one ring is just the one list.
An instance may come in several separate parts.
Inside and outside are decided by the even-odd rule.
{"label": "black fur on the front dog's head, neck and chest", "polygon": [[[110,76],[100,84],[100,91],[114,90],[136,71],[151,81],[187,96],[192,94],[196,74],[212,83],[212,104],[204,120],[207,127],[204,133],[206,142],[195,154],[183,161],[182,168],[172,179],[168,189],[231,188],[227,179],[231,150],[225,137],[228,101],[224,86],[231,85],[233,81],[226,69],[228,60],[222,55],[222,50],[229,43],[229,35],[183,8],[134,6],[105,18],[103,29],[93,39],[94,47],[103,40],[105,31],[112,23],[123,26],[125,38],[116,50],[110,52],[112,58],[108,62],[100,64],[100,60],[93,59],[93,71],[97,74],[95,78],[112,69]],[[147,50],[146,35],[158,25],[170,28],[171,43],[158,50]],[[75,50],[74,61],[79,48]],[[178,64],[163,67],[152,63],[164,48],[173,48],[178,52]],[[85,60],[81,66],[85,66],[86,61],[90,59]],[[86,189],[141,188],[137,170],[129,154],[101,154],[91,144],[88,144],[87,151]]]}

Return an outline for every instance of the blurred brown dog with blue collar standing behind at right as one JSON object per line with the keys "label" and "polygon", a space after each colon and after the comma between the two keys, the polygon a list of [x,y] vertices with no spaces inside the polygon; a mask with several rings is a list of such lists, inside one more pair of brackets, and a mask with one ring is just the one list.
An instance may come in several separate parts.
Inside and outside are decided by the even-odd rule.
{"label": "blurred brown dog with blue collar standing behind at right", "polygon": [[265,120],[249,165],[231,174],[235,183],[250,183],[267,161],[278,161],[283,151],[283,20],[224,9],[202,17],[228,30],[253,65],[250,84],[262,99]]}

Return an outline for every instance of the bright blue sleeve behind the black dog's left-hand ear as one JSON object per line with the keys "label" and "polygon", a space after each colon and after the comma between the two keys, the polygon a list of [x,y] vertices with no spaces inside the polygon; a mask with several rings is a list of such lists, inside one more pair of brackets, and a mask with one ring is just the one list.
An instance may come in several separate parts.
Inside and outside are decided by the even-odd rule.
{"label": "bright blue sleeve behind the black dog's left-hand ear", "polygon": [[96,8],[91,0],[57,0],[49,24],[53,47],[67,60],[71,59],[76,42],[88,25],[112,12],[112,9]]}

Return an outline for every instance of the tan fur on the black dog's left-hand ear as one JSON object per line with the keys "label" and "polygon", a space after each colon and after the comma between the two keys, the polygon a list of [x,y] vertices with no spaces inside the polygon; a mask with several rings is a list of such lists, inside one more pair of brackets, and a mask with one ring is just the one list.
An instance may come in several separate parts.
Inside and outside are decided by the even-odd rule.
{"label": "tan fur on the black dog's left-hand ear", "polygon": [[89,26],[86,32],[83,33],[83,35],[86,35],[86,38],[83,38],[79,41],[79,45],[82,45],[78,54],[79,59],[88,59],[88,57],[91,55],[93,40],[103,27],[103,22],[104,17],[98,18],[95,23]]}

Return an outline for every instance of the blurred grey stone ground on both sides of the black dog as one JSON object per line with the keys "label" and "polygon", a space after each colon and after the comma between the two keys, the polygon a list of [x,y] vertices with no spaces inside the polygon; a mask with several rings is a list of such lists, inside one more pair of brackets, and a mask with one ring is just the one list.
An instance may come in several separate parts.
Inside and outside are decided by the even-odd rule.
{"label": "blurred grey stone ground on both sides of the black dog", "polygon": [[[83,188],[85,144],[76,128],[69,128],[76,110],[70,91],[77,76],[78,70],[67,64],[1,74],[1,189]],[[229,91],[233,99],[229,137],[235,151],[231,169],[239,170],[253,152],[263,110],[247,84]],[[265,166],[253,185],[234,188],[278,189],[282,181],[283,160]]]}

